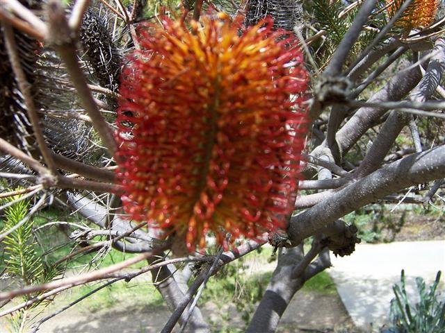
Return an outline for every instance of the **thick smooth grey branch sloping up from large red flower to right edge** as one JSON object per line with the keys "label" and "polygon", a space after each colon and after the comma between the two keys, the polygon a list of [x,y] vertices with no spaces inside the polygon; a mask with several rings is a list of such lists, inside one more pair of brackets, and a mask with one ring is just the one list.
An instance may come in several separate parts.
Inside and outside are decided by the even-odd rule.
{"label": "thick smooth grey branch sloping up from large red flower to right edge", "polygon": [[412,185],[445,177],[445,146],[416,153],[382,167],[341,189],[318,205],[293,216],[287,233],[300,244],[328,223],[368,203]]}

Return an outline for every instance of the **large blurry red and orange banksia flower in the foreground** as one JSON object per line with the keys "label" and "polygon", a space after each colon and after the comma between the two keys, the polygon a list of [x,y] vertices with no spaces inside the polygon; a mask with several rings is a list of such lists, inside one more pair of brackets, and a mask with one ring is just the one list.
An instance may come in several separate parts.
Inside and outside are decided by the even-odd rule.
{"label": "large blurry red and orange banksia flower in the foreground", "polygon": [[[118,181],[124,210],[188,250],[286,228],[304,145],[307,71],[289,32],[225,15],[161,17],[124,69]],[[286,35],[285,39],[282,38]],[[184,235],[184,237],[183,237]]]}

